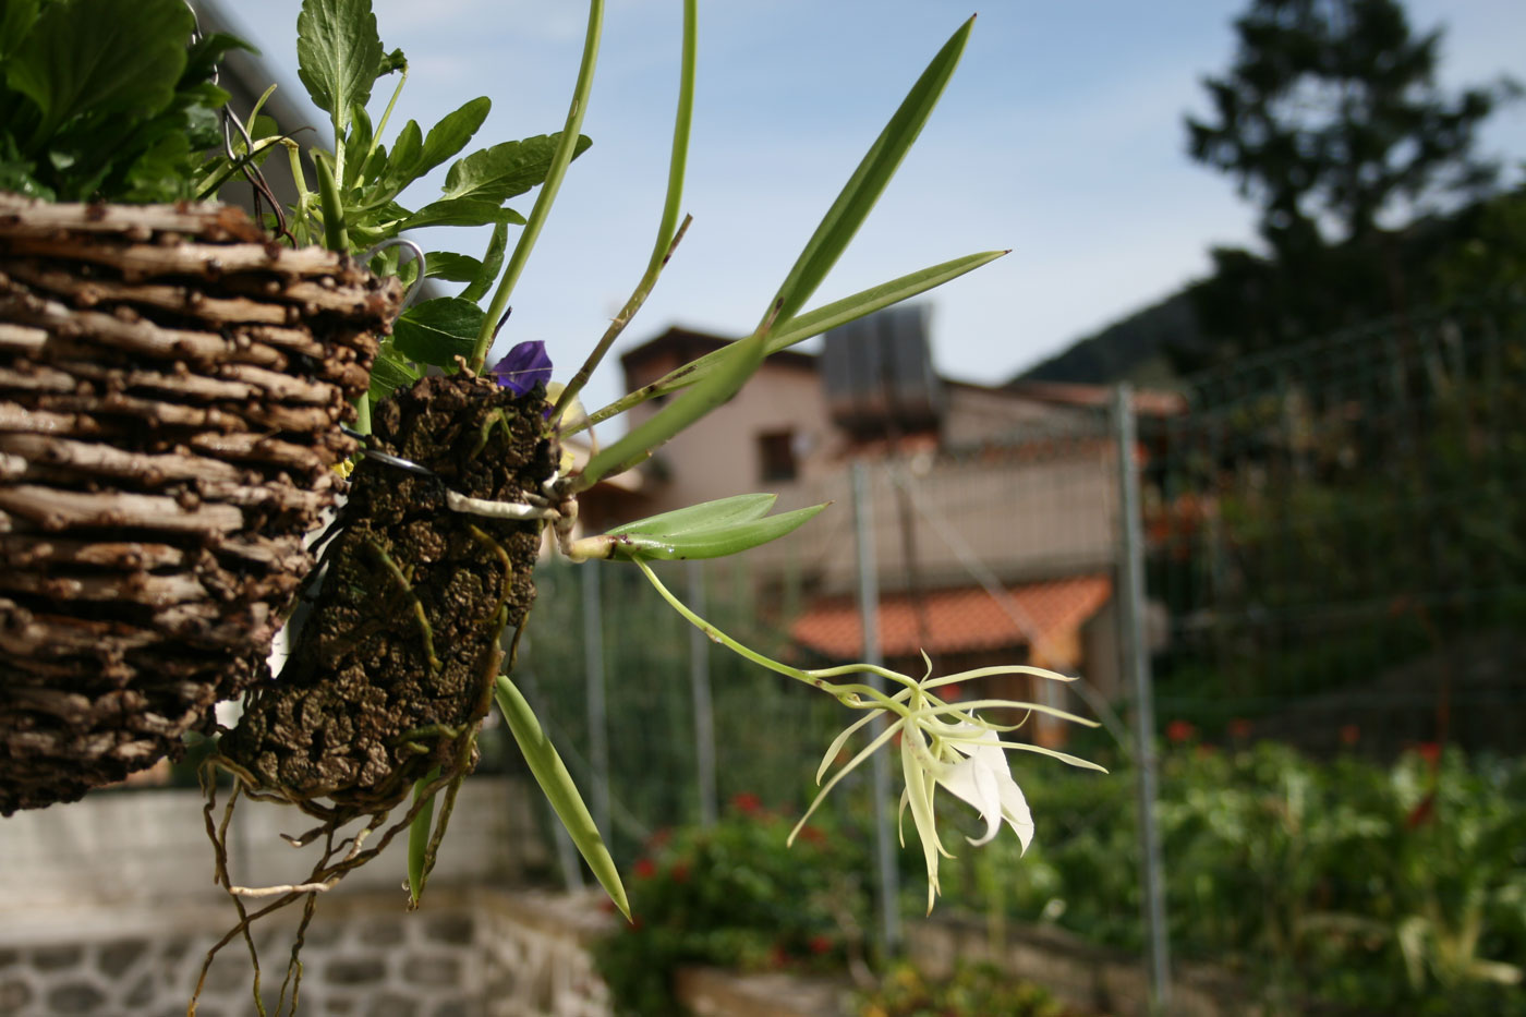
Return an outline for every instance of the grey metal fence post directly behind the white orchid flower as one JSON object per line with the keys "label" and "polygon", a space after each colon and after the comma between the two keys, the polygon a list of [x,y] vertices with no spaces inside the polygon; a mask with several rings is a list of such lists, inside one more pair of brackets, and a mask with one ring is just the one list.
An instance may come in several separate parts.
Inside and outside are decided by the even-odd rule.
{"label": "grey metal fence post directly behind the white orchid flower", "polygon": [[[859,622],[864,634],[864,663],[882,664],[879,652],[879,570],[874,560],[874,510],[868,486],[868,467],[862,460],[853,461],[853,531],[858,550],[858,600]],[[870,675],[870,683],[884,692],[885,680]],[[879,718],[871,725],[879,736],[890,718]],[[896,848],[891,841],[890,809],[890,753],[877,751],[870,757],[874,779],[874,858],[877,867],[876,890],[879,896],[879,935],[885,953],[900,947],[900,873],[896,869]]]}

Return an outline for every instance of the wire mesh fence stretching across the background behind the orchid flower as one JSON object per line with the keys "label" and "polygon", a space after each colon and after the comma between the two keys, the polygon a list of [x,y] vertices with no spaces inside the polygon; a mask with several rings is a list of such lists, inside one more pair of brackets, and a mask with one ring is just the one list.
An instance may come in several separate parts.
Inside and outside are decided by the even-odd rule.
{"label": "wire mesh fence stretching across the background behind the orchid flower", "polygon": [[[1427,777],[1401,753],[1520,751],[1526,313],[1495,304],[1389,322],[1195,377],[1180,412],[1166,400],[1149,408],[1132,449],[1149,603],[1135,649],[1154,664],[1167,747],[1164,913],[1148,921],[1134,861],[1144,848],[1140,756],[1125,725],[1120,441],[1105,408],[1070,405],[1000,438],[867,464],[881,643],[891,666],[916,675],[922,651],[942,673],[990,663],[1079,673],[1067,690],[1019,680],[969,692],[1048,695],[1105,722],[1019,734],[1096,756],[1114,777],[1058,779],[1048,760],[1015,759],[1039,848],[1021,863],[1015,844],[964,852],[949,863],[948,895],[1112,945],[1144,948],[1169,933],[1186,956],[1235,957],[1280,979],[1297,1008],[1320,956],[1366,964],[1393,948],[1373,913],[1416,890],[1375,889],[1372,852],[1412,851],[1402,838],[1424,822],[1425,788],[1460,800],[1470,780],[1474,791],[1512,780],[1508,767],[1453,770],[1439,785],[1444,770]],[[859,660],[845,470],[786,486],[780,508],[819,501],[838,505],[740,563],[699,568],[702,591],[682,567],[664,582],[685,599],[702,592],[707,617],[781,660]],[[703,818],[711,796],[803,809],[819,753],[852,718],[702,640],[707,710],[685,623],[635,571],[601,570],[597,600],[584,599],[586,571],[539,573],[516,673],[580,782],[609,788],[617,857],[630,861],[655,829]],[[589,670],[591,652],[603,670]],[[592,722],[591,680],[604,696]],[[600,759],[588,751],[600,742],[592,725],[607,738]],[[1303,756],[1253,751],[1259,739]],[[1380,767],[1354,768],[1358,757]],[[862,814],[867,774],[844,791],[839,808]],[[870,826],[856,829],[867,837]],[[905,899],[922,899],[919,861],[903,857],[902,869]],[[1357,925],[1369,953],[1351,960],[1341,951]]]}

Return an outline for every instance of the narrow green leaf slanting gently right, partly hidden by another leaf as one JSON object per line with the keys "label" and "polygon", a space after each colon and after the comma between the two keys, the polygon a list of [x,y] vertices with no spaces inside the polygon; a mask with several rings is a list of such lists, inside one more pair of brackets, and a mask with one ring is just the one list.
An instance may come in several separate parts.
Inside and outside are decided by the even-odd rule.
{"label": "narrow green leaf slanting gently right, partly hidden by another leaf", "polygon": [[[964,255],[963,258],[945,261],[943,264],[911,272],[909,275],[891,279],[890,282],[881,282],[879,286],[873,286],[867,290],[859,290],[853,296],[844,296],[841,301],[833,301],[784,322],[775,322],[774,330],[769,331],[768,336],[768,351],[777,353],[795,345],[797,342],[804,342],[812,336],[819,336],[830,328],[845,325],[847,322],[862,318],[864,315],[877,312],[882,307],[899,304],[903,299],[943,286],[949,279],[957,279],[966,272],[972,272],[983,264],[989,264],[1006,253],[1006,250],[986,250],[983,253]],[[652,382],[650,385],[615,400],[609,406],[604,406],[589,418],[589,423],[597,425],[603,420],[609,420],[610,417],[626,412],[632,406],[639,406],[649,399],[676,392],[681,388],[687,388],[705,377],[710,377],[711,371],[714,371],[716,366],[719,366],[726,357],[728,350],[731,350],[731,347],[722,347],[720,350],[696,357],[690,363],[664,374],[656,382]]]}

